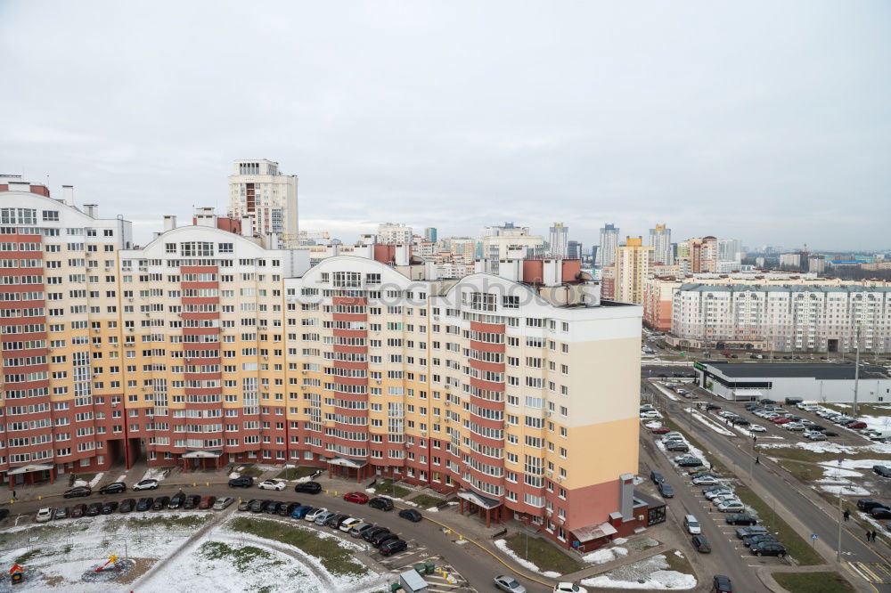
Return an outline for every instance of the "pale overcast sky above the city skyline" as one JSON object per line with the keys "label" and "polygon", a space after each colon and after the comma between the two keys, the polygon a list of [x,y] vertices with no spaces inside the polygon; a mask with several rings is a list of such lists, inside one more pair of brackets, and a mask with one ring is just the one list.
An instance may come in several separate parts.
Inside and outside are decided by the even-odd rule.
{"label": "pale overcast sky above the city skyline", "polygon": [[891,3],[0,0],[0,174],[124,214],[225,209],[236,158],[301,228],[891,248]]}

